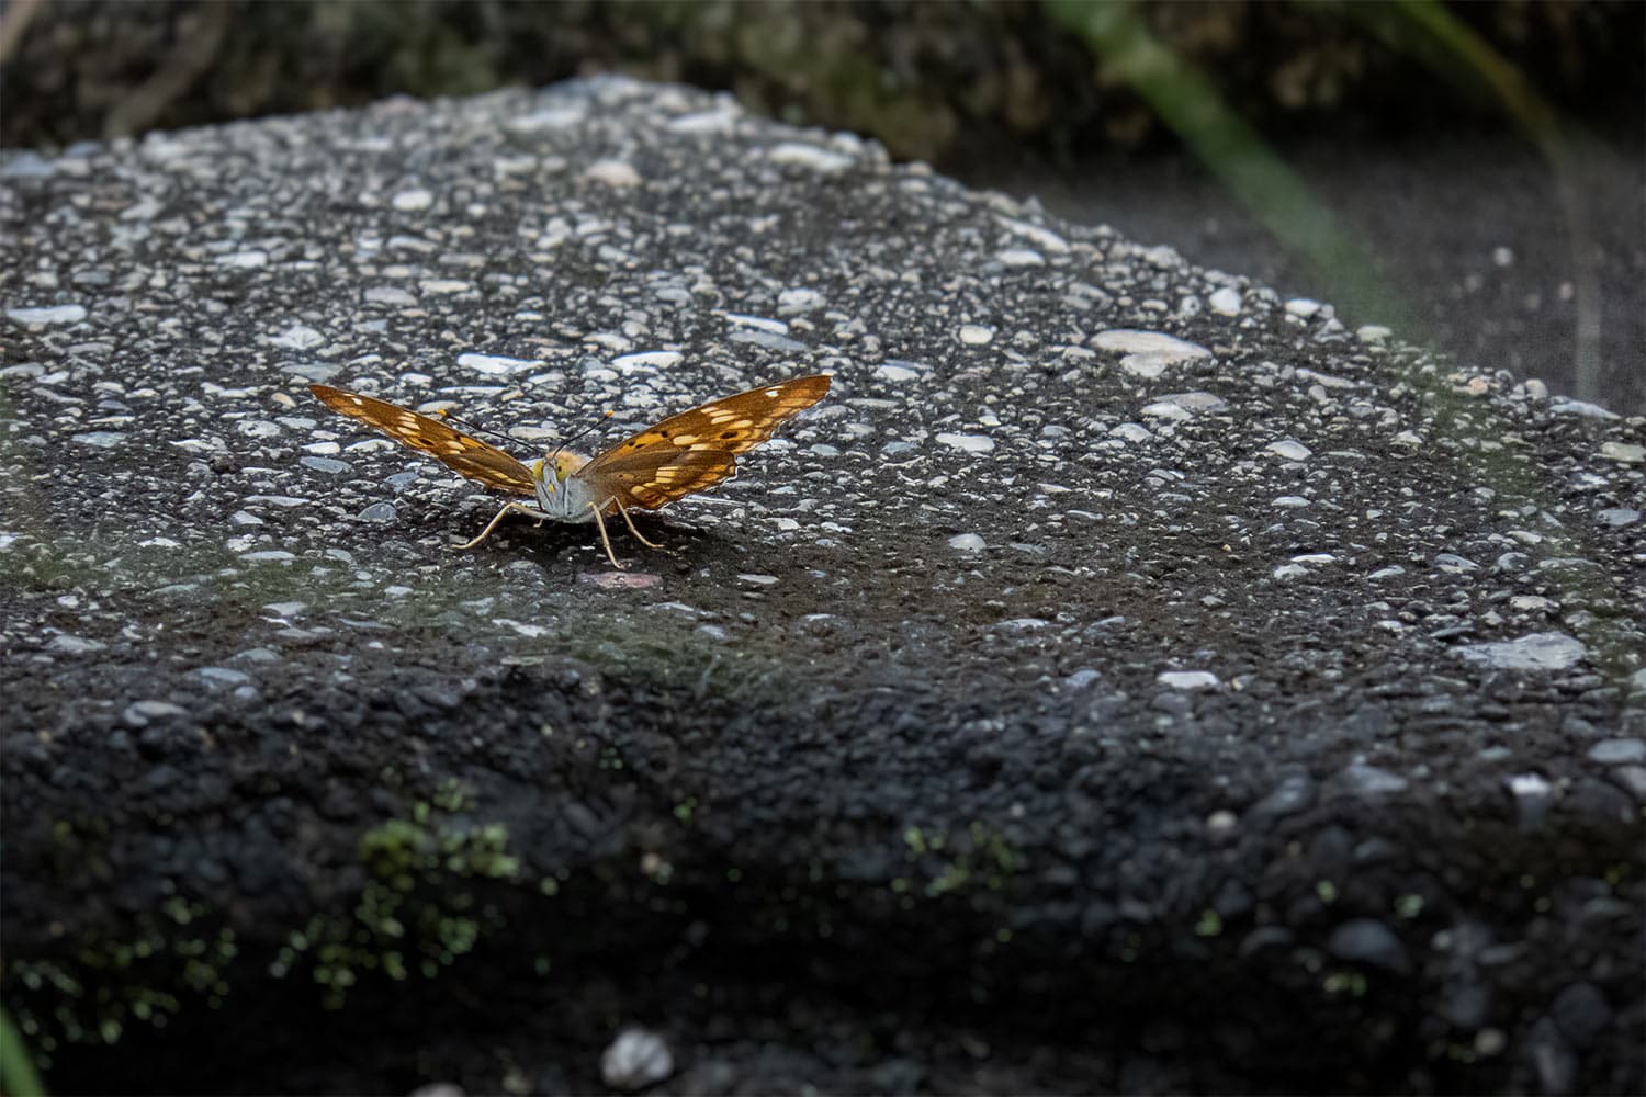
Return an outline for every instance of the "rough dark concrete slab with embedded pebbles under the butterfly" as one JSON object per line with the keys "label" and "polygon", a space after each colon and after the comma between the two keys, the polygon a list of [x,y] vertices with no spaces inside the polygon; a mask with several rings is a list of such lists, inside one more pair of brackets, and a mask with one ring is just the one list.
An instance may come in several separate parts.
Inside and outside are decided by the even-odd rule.
{"label": "rough dark concrete slab with embedded pebbles under the butterfly", "polygon": [[[0,217],[54,1089],[1641,1087],[1641,419],[622,81]],[[624,572],[306,391],[528,457],[813,372]]]}

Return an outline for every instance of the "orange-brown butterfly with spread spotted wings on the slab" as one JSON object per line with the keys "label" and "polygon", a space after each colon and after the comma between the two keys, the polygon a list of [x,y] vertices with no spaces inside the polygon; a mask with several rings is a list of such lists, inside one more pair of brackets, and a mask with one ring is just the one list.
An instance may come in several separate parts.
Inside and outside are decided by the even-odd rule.
{"label": "orange-brown butterfly with spread spotted wings on the slab", "polygon": [[385,400],[329,385],[309,385],[309,391],[332,411],[377,428],[471,480],[535,497],[535,507],[512,500],[504,503],[477,538],[453,548],[474,548],[512,513],[538,521],[593,521],[601,531],[606,559],[622,569],[606,536],[607,516],[621,515],[637,541],[662,548],[634,528],[630,510],[657,510],[729,479],[737,472],[736,454],[754,449],[783,423],[823,400],[828,386],[830,378],[823,373],[762,385],[672,414],[594,457],[555,449],[532,464]]}

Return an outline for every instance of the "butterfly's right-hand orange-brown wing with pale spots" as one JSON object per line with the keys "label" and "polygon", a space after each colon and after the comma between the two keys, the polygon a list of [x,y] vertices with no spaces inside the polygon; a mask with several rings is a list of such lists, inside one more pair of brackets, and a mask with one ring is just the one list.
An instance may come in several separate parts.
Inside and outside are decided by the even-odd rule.
{"label": "butterfly's right-hand orange-brown wing with pale spots", "polygon": [[629,437],[574,475],[596,500],[657,510],[737,472],[736,454],[754,449],[783,423],[828,395],[823,373],[751,388],[668,416]]}

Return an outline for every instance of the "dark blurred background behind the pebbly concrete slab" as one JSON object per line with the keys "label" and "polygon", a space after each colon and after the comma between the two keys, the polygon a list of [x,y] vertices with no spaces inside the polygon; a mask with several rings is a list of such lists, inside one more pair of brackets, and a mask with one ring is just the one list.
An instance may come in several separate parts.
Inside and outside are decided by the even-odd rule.
{"label": "dark blurred background behind the pebbly concrete slab", "polygon": [[[1198,71],[1356,250],[1310,248],[1239,150],[1190,151],[1119,12]],[[1646,411],[1646,5],[130,3],[12,0],[0,141],[463,95],[596,71],[728,89],[974,186],[1332,301],[1473,372]],[[1187,82],[1185,82],[1187,84]],[[1228,128],[1228,127],[1225,127]],[[1282,229],[1277,229],[1277,224]],[[1307,234],[1305,234],[1307,235]]]}

